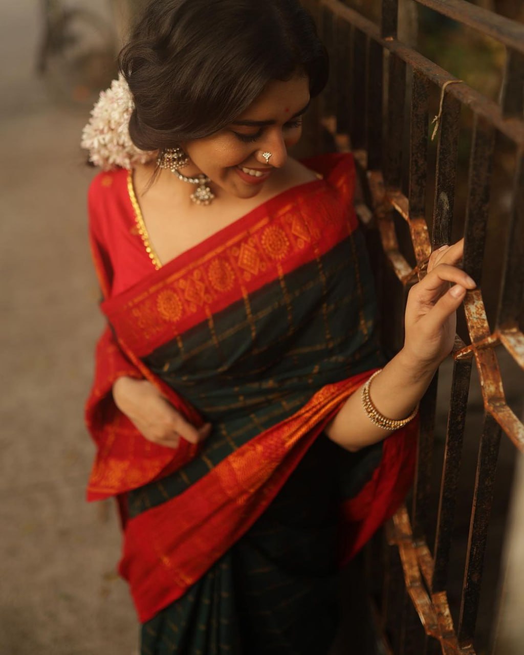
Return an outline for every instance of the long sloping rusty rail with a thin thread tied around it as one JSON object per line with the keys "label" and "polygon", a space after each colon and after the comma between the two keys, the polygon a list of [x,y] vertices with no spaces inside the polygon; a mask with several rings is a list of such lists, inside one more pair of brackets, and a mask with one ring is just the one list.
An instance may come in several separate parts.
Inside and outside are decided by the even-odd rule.
{"label": "long sloping rusty rail with a thin thread tied around it", "polygon": [[[341,18],[347,20],[356,29],[365,32],[372,39],[381,43],[386,50],[396,53],[404,62],[411,65],[413,69],[424,73],[429,81],[436,84],[439,88],[447,81],[457,79],[440,66],[430,62],[430,60],[416,50],[413,50],[413,48],[409,48],[395,39],[381,39],[379,28],[373,22],[367,20],[367,18],[364,18],[364,16],[353,9],[346,7],[339,0],[319,1],[323,6],[329,7],[337,16],[341,16]],[[473,5],[468,3],[468,7],[473,8]],[[502,110],[496,102],[485,98],[485,96],[470,88],[467,84],[451,84],[448,87],[448,92],[453,98],[457,98],[462,105],[469,107],[479,118],[486,119],[487,122],[491,123],[496,130],[507,136],[515,145],[524,147],[524,121],[508,121],[502,115]]]}

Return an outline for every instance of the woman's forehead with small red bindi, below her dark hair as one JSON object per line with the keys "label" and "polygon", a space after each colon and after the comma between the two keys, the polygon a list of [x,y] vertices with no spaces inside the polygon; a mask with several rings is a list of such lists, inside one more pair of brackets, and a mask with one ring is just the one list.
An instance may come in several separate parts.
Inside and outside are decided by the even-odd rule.
{"label": "woman's forehead with small red bindi, below her dark hair", "polygon": [[238,120],[263,121],[294,114],[309,102],[309,79],[297,75],[287,81],[273,80]]}

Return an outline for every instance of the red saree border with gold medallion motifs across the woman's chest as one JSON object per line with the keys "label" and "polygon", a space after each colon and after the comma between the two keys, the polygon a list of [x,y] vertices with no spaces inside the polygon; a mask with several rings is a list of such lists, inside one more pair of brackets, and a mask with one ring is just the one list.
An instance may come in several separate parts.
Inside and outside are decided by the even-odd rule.
{"label": "red saree border with gold medallion motifs across the woman's chest", "polygon": [[[310,185],[311,186],[311,185]],[[262,210],[260,210],[262,211]],[[221,233],[199,244],[200,257],[166,265],[143,284],[105,301],[109,322],[138,357],[174,339],[187,329],[265,284],[329,252],[357,227],[354,212],[322,189],[279,204],[274,214],[264,212],[231,238]],[[245,223],[243,224],[245,226]]]}

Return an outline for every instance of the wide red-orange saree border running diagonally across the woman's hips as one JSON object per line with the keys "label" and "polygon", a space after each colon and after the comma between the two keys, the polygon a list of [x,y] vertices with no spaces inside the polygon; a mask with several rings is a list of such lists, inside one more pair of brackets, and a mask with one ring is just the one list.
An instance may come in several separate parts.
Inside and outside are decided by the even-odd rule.
{"label": "wide red-orange saree border running diagonally across the woman's hips", "polygon": [[324,386],[295,415],[234,451],[179,496],[128,521],[119,570],[141,622],[181,597],[246,533],[371,373]]}

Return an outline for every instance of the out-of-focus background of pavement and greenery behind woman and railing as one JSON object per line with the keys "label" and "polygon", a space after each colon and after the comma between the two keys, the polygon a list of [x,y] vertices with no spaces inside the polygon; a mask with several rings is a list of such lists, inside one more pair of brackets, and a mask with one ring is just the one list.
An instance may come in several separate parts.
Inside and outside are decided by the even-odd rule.
{"label": "out-of-focus background of pavement and greenery behind woman and railing", "polygon": [[[0,6],[1,655],[137,652],[134,610],[115,574],[120,536],[113,506],[84,502],[94,448],[83,424],[83,403],[103,323],[86,235],[86,191],[96,170],[86,165],[79,141],[99,90],[115,77],[115,54],[143,4],[3,0]],[[348,4],[373,19],[379,16],[378,0]],[[524,21],[521,0],[478,4]],[[405,41],[496,100],[504,53],[495,43],[409,1],[401,11]],[[467,125],[467,113],[462,120]],[[466,138],[459,152],[464,174],[469,145]],[[506,166],[503,144],[497,157],[494,207],[507,215],[511,179],[504,170],[512,166]],[[457,212],[463,214],[460,181],[458,189]],[[502,252],[504,233],[497,221],[490,225],[494,252]],[[489,288],[489,280],[485,287],[492,311],[496,289]],[[509,360],[501,365],[508,402],[522,415],[521,373]],[[436,438],[441,442],[449,369],[443,366],[440,384]],[[475,384],[470,392],[470,405],[477,403],[469,426],[473,435],[483,413]],[[466,443],[465,457],[471,465],[464,475],[474,474],[476,441]],[[498,572],[513,458],[514,449],[503,440],[487,587],[495,584]],[[460,498],[459,505],[463,520],[457,522],[457,534],[464,542],[471,498]],[[458,558],[452,572],[457,598],[460,567]],[[479,653],[487,652],[493,601],[482,612],[479,624],[486,627],[480,626]]]}

